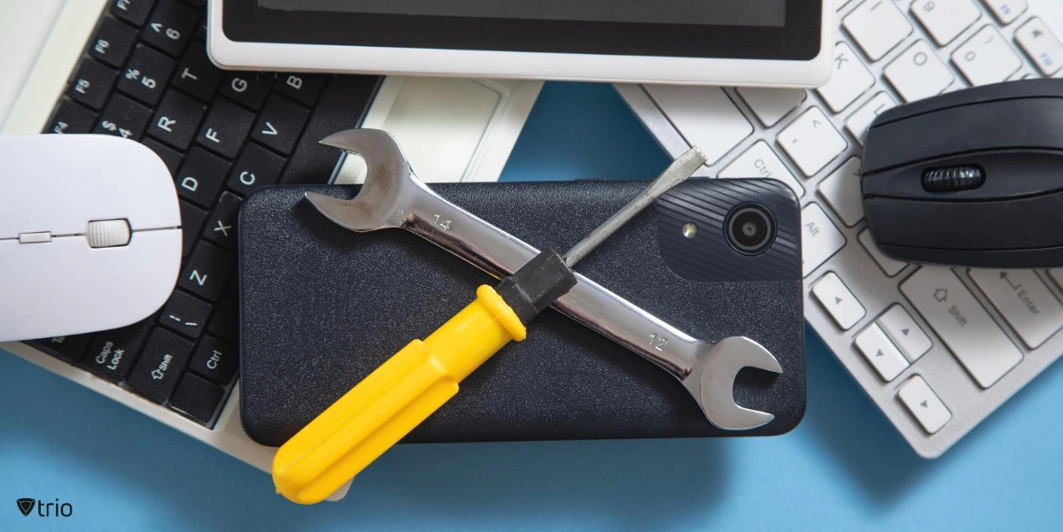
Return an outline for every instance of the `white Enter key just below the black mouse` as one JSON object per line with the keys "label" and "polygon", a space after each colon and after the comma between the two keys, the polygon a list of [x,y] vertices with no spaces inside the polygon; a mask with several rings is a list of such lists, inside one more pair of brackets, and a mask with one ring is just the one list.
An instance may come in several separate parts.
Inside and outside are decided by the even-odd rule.
{"label": "white Enter key just below the black mouse", "polygon": [[969,270],[1000,315],[1029,348],[1036,349],[1063,327],[1063,305],[1030,270]]}

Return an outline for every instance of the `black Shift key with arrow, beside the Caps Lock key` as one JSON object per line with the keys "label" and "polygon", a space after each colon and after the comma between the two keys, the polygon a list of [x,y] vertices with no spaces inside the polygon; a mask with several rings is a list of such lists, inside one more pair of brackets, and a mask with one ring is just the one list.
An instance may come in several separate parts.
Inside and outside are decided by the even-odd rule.
{"label": "black Shift key with arrow, beside the Caps Lock key", "polygon": [[148,399],[163,404],[178,385],[178,380],[192,354],[192,343],[155,328],[137,360],[125,385]]}

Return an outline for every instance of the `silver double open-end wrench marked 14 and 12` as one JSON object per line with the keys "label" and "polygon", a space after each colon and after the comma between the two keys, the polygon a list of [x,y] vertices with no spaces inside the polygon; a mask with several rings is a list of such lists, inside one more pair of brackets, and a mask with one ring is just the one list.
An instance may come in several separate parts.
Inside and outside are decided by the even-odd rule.
{"label": "silver double open-end wrench marked 14 and 12", "polygon": [[[406,229],[499,278],[511,275],[538,255],[535,247],[428,189],[414,175],[391,135],[349,130],[330,135],[321,143],[360,155],[368,168],[366,182],[352,200],[306,193],[333,222],[357,233]],[[676,159],[669,171],[690,175],[704,160],[691,151]],[[576,278],[576,286],[553,308],[679,379],[712,425],[749,430],[775,418],[735,404],[735,376],[743,367],[782,373],[778,360],[760,344],[745,337],[715,343],[692,338],[583,275],[577,273]]]}

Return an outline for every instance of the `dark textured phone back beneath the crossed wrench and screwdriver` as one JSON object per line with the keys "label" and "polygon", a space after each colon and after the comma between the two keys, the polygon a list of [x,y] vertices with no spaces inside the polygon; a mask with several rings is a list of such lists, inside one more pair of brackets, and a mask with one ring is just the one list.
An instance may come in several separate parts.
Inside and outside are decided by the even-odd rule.
{"label": "dark textured phone back beneath the crossed wrench and screwdriver", "polygon": [[[567,182],[433,189],[536,247],[563,252],[644,187]],[[307,190],[337,198],[357,193],[357,187],[347,186],[269,187],[244,200],[240,212],[240,413],[251,437],[270,446],[284,443],[410,340],[432,333],[473,299],[477,286],[496,282],[406,231],[348,231],[303,200]],[[714,257],[703,250],[687,258],[677,255],[682,241],[665,237],[661,248],[670,250],[673,264],[712,261],[706,271],[729,271],[729,279],[771,280],[688,280],[665,264],[658,231],[672,235],[672,229],[661,227],[690,219],[702,228],[698,238],[722,239],[716,229],[722,217],[748,201],[769,205],[778,223],[770,260],[749,261],[729,250]],[[776,415],[766,426],[716,429],[664,371],[547,310],[528,327],[525,341],[488,360],[404,441],[789,431],[805,411],[799,217],[792,192],[778,182],[692,179],[576,265],[690,336],[708,341],[745,336],[772,351],[783,373],[745,370],[735,391],[740,405]]]}

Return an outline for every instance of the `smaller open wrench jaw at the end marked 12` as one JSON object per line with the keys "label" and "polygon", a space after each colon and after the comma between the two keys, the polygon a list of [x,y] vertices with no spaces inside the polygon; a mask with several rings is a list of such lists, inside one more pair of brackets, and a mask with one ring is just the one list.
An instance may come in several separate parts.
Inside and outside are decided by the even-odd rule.
{"label": "smaller open wrench jaw at the end marked 12", "polygon": [[698,357],[694,372],[684,380],[712,425],[724,430],[750,430],[767,425],[775,416],[735,404],[735,377],[743,367],[782,373],[767,349],[745,337],[725,338]]}

